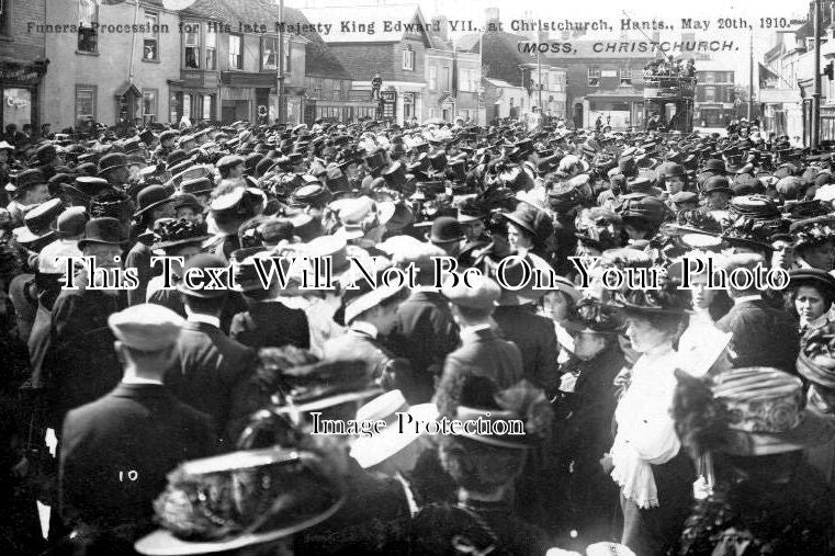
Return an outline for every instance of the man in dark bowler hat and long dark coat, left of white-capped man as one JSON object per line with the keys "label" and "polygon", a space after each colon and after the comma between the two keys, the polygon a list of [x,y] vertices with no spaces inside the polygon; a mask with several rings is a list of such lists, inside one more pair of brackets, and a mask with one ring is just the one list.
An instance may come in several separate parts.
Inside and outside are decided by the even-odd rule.
{"label": "man in dark bowler hat and long dark coat, left of white-capped man", "polygon": [[[92,290],[102,285],[103,272],[119,269],[124,238],[116,218],[93,218],[87,223],[78,247],[84,257],[94,257],[97,274],[79,275],[63,290],[52,310],[50,342],[44,365],[55,386],[55,429],[64,415],[109,393],[119,384],[122,367],[113,350],[108,317],[120,310],[119,290]],[[83,272],[82,274],[87,274]]]}

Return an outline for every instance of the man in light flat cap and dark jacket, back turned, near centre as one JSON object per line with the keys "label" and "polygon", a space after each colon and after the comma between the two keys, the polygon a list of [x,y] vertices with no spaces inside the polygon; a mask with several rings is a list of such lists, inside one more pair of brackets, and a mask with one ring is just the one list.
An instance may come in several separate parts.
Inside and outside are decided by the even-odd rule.
{"label": "man in light flat cap and dark jacket, back turned, near centre", "polygon": [[490,316],[501,295],[487,276],[470,276],[467,286],[448,282],[441,293],[452,303],[452,316],[461,329],[461,347],[447,355],[436,392],[441,415],[454,415],[461,387],[472,375],[485,376],[499,388],[522,379],[522,355],[514,342],[503,340],[492,328]]}

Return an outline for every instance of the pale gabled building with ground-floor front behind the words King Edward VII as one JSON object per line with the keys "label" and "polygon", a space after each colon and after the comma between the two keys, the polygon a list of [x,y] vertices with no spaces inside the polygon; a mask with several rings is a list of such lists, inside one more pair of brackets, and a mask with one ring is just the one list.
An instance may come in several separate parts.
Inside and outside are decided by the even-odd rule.
{"label": "pale gabled building with ground-floor front behind the words King Edward VII", "polygon": [[[303,9],[311,22],[332,25],[323,36],[351,77],[351,99],[370,100],[371,80],[383,80],[382,117],[426,117],[426,52],[433,44],[418,5],[353,5]],[[386,22],[391,23],[386,27]]]}

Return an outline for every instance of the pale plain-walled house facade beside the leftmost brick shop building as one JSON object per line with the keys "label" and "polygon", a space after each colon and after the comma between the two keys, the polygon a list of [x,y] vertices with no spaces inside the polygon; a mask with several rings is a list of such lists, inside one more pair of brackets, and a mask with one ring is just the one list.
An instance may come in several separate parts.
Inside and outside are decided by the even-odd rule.
{"label": "pale plain-walled house facade beside the leftmost brick shop building", "polygon": [[[47,33],[53,71],[44,122],[83,131],[90,122],[167,122],[168,80],[180,76],[180,15],[159,0],[117,4],[94,0],[49,3],[49,21],[78,21],[77,33]],[[116,25],[136,22],[139,32]],[[94,25],[98,23],[97,25]]]}

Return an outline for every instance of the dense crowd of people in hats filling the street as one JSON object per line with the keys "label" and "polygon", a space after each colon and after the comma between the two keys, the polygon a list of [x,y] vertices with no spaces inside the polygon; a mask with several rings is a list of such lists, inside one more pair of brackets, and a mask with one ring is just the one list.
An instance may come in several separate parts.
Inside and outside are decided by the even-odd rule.
{"label": "dense crowd of people in hats filling the street", "polygon": [[[833,154],[236,122],[0,161],[5,555],[834,553]],[[398,425],[444,419],[490,427]]]}

